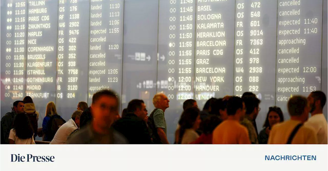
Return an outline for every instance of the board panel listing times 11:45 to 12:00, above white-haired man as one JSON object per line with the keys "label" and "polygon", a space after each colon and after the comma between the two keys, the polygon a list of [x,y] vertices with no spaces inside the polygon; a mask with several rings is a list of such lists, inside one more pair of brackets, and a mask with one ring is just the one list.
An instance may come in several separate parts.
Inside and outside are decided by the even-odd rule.
{"label": "board panel listing times 11:45 to 12:00, above white-haired man", "polygon": [[196,1],[159,2],[157,92],[171,101],[166,115],[170,138],[183,102],[194,98],[196,10]]}

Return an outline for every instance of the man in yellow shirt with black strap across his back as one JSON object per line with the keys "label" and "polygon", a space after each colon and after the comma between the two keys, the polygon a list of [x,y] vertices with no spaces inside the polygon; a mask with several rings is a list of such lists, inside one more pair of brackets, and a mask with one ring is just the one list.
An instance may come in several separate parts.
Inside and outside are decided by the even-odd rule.
{"label": "man in yellow shirt with black strap across his back", "polygon": [[[314,129],[303,125],[309,118],[307,99],[303,96],[293,96],[287,107],[290,120],[276,124],[272,128],[268,144],[318,144]],[[294,136],[292,132],[295,133]]]}

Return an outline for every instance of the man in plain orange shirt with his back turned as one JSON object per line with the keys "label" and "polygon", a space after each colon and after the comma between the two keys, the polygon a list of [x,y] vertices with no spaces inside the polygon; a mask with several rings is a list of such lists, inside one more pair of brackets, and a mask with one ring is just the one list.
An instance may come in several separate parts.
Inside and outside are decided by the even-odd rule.
{"label": "man in plain orange shirt with his back turned", "polygon": [[227,102],[228,119],[213,131],[213,144],[251,144],[248,130],[240,124],[245,116],[245,103],[240,97],[231,97]]}

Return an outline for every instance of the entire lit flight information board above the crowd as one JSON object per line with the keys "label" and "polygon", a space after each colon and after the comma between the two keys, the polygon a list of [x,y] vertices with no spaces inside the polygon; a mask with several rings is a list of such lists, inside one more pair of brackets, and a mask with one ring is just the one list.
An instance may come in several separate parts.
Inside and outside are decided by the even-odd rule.
{"label": "entire lit flight information board above the crowd", "polygon": [[113,89],[130,100],[165,93],[168,138],[187,99],[253,92],[268,107],[327,92],[324,0],[0,0],[0,107],[31,96],[54,101],[68,120],[76,105]]}

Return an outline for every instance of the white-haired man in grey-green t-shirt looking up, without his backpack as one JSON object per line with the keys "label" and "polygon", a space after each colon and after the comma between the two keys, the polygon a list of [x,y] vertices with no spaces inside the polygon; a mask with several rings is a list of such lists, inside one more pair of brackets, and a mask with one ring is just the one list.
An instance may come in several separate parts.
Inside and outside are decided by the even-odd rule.
{"label": "white-haired man in grey-green t-shirt looking up, without his backpack", "polygon": [[163,93],[158,93],[153,98],[153,104],[156,111],[154,112],[154,125],[157,130],[158,137],[160,138],[160,141],[162,144],[169,144],[169,141],[166,137],[166,121],[164,117],[164,112],[167,108],[169,108],[169,102],[170,100],[167,98],[167,96]]}

